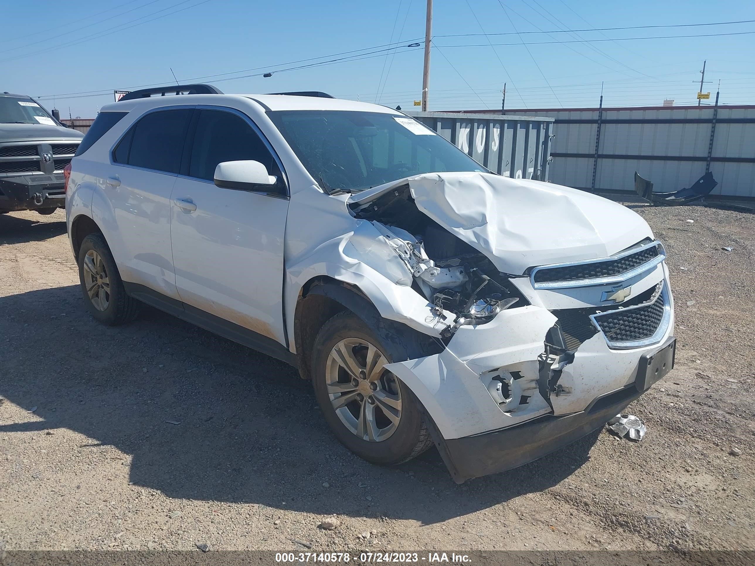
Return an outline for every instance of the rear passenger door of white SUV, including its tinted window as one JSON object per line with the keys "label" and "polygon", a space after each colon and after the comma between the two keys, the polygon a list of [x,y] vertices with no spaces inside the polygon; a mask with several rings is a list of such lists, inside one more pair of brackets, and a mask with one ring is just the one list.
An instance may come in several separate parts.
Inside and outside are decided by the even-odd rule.
{"label": "rear passenger door of white SUV, including its tinted window", "polygon": [[108,235],[124,281],[177,299],[171,253],[171,191],[193,108],[159,109],[137,120],[112,152],[104,190],[116,229]]}

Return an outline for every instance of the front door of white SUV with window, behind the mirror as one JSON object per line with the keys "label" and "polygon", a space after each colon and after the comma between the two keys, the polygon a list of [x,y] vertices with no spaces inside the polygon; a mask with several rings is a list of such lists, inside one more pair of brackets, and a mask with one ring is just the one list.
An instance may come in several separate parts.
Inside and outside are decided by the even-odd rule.
{"label": "front door of white SUV with window, behind the mirror", "polygon": [[[220,107],[197,109],[193,146],[172,193],[171,241],[180,300],[285,345],[282,166],[254,122]],[[269,192],[223,189],[221,161],[253,159],[276,175]]]}

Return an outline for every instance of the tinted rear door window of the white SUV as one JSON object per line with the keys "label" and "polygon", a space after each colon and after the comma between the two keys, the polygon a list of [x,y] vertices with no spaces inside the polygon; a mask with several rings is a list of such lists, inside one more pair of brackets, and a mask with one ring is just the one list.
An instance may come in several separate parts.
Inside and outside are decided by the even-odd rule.
{"label": "tinted rear door window of the white SUV", "polygon": [[127,159],[128,165],[134,167],[178,173],[192,112],[193,109],[174,109],[147,114],[131,126],[113,157],[119,163]]}

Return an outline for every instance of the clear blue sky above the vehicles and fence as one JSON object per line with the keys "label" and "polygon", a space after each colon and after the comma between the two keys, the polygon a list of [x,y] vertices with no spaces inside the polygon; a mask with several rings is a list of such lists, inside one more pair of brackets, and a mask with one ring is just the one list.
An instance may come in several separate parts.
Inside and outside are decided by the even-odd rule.
{"label": "clear blue sky above the vehicles and fence", "polygon": [[[201,81],[227,93],[320,90],[413,109],[421,95],[421,48],[377,50],[422,41],[424,10],[425,0],[3,2],[0,90],[42,96],[64,117],[69,107],[74,116],[91,117],[112,102],[112,93],[80,93],[171,82],[172,67],[180,82],[227,73]],[[755,33],[581,42],[755,32],[755,23],[553,32],[735,20],[755,20],[755,4],[435,0],[430,109],[498,110],[504,82],[510,109],[596,106],[601,82],[604,106],[655,105],[664,98],[694,103],[704,59],[711,82],[703,91],[714,97],[720,79],[722,103],[755,103]],[[531,33],[538,31],[551,33]],[[440,37],[482,32],[509,35]],[[522,41],[572,43],[525,47]],[[364,50],[356,53],[362,58],[282,71],[285,63],[354,50]],[[245,69],[256,70],[237,72]],[[218,80],[276,69],[270,78]]]}

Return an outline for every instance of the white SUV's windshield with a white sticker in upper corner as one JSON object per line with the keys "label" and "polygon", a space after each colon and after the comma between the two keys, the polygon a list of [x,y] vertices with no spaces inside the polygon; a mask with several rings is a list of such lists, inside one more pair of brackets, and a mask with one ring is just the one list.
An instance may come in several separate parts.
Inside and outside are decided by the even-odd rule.
{"label": "white SUV's windshield with a white sticker in upper corner", "polygon": [[362,191],[402,177],[486,171],[413,118],[381,112],[268,112],[310,175],[328,192]]}

